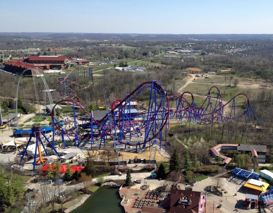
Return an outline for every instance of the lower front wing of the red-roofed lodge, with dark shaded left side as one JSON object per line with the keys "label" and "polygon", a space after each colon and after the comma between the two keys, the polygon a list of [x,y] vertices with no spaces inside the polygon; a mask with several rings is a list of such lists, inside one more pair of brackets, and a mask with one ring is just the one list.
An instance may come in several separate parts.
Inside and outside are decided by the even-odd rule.
{"label": "lower front wing of the red-roofed lodge, with dark shaded left side", "polygon": [[[25,69],[29,69],[29,68],[33,68],[33,69],[38,69],[38,72],[40,74],[44,74],[44,69],[42,67],[39,67],[37,65],[34,64],[27,64],[26,60],[24,59],[13,59],[9,62],[4,62],[5,65],[5,70],[9,71],[11,73],[14,73],[16,75],[20,75],[20,73],[25,70]],[[36,71],[33,70],[28,70],[24,73],[24,75],[34,75],[36,76]]]}

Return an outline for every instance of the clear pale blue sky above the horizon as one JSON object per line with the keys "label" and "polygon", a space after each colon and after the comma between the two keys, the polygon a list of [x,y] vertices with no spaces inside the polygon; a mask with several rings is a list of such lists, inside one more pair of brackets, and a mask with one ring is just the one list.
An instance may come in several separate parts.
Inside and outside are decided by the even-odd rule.
{"label": "clear pale blue sky above the horizon", "polygon": [[272,0],[1,1],[1,32],[273,34]]}

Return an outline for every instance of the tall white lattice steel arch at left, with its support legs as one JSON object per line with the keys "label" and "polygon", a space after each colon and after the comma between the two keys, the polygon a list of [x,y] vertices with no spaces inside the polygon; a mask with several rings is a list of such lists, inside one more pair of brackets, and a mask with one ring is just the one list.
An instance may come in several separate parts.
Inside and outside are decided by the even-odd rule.
{"label": "tall white lattice steel arch at left, with its support legs", "polygon": [[[15,91],[15,99],[14,99],[14,105],[13,105],[13,109],[16,109],[16,119],[14,120],[14,125],[17,125],[18,126],[18,105],[17,105],[17,100],[18,100],[18,89],[19,89],[19,83],[20,83],[20,80],[22,78],[22,75],[28,71],[28,70],[33,70],[36,72],[36,75],[40,75],[41,73],[38,72],[38,69],[34,69],[34,68],[28,68],[28,69],[25,69],[24,71],[22,71],[18,77],[18,81],[17,81],[17,85],[16,85],[16,91]],[[32,76],[34,78],[34,76]],[[52,107],[54,106],[53,104],[53,99],[52,99],[52,96],[51,96],[51,93],[49,91],[49,87],[46,83],[46,79],[40,75],[44,85],[45,85],[45,88],[46,88],[46,91],[47,91],[47,95],[48,95],[48,99],[49,99],[49,103],[50,103],[50,107],[52,109]],[[35,85],[35,82],[34,82],[34,79],[33,79],[33,83],[34,83],[34,89],[35,89],[35,95],[36,95],[36,99],[37,99],[37,105],[38,105],[38,109],[39,109],[39,112],[41,113],[41,109],[40,109],[40,101],[39,101],[39,96],[38,96],[38,92],[37,92],[37,89],[36,89],[36,85]],[[54,110],[54,115],[56,117],[56,113],[55,113],[55,110]]]}

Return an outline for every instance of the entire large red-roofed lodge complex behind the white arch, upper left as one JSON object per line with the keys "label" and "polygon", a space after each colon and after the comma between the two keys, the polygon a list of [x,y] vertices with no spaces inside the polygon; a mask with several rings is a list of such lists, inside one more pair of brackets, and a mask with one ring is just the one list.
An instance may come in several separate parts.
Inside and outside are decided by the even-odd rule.
{"label": "entire large red-roofed lodge complex behind the white arch, upper left", "polygon": [[[44,70],[53,69],[55,67],[61,67],[68,62],[67,56],[28,56],[26,59],[13,59],[9,62],[4,62],[5,70],[16,75],[24,69],[38,69],[38,72],[43,75]],[[25,76],[34,75],[36,72],[33,70],[28,70],[24,73]]]}

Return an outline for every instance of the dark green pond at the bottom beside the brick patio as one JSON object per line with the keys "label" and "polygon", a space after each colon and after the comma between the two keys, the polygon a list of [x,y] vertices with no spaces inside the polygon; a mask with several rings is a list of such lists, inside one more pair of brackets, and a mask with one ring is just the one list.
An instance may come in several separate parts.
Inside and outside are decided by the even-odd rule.
{"label": "dark green pond at the bottom beside the brick patio", "polygon": [[96,212],[96,213],[124,213],[120,205],[119,187],[100,187],[81,206],[72,213]]}

